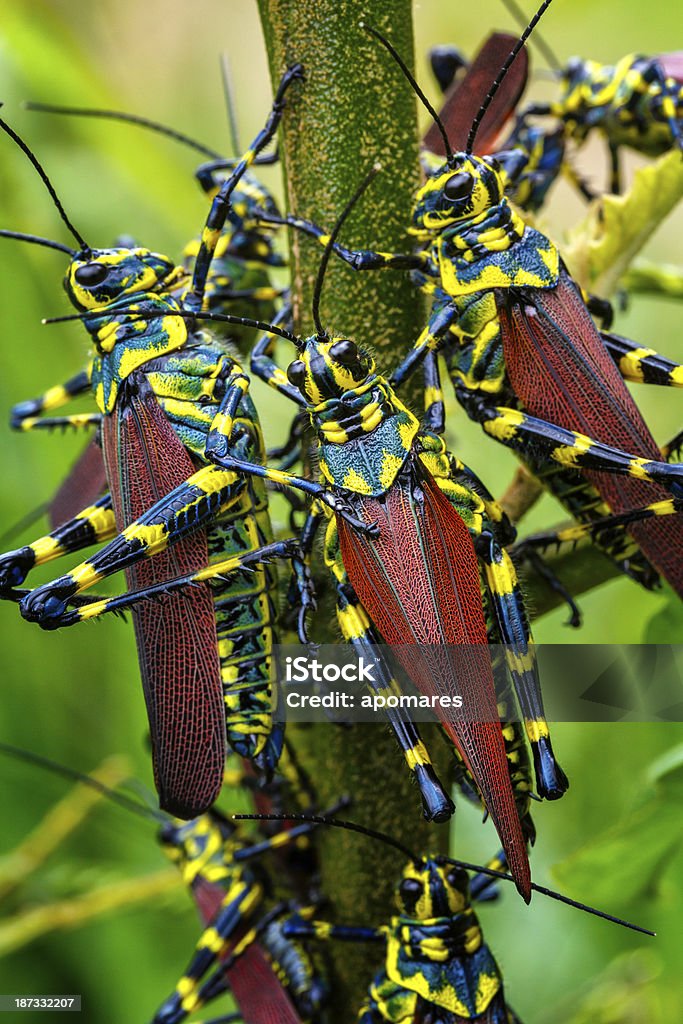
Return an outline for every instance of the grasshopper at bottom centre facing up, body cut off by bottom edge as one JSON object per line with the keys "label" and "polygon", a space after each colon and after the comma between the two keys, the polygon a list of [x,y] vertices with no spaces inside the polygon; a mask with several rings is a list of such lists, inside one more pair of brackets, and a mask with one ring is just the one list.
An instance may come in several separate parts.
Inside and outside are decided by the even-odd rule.
{"label": "grasshopper at bottom centre facing up, body cut off by bottom edge", "polygon": [[[253,815],[237,814],[236,818]],[[358,1012],[358,1024],[402,1024],[438,1021],[439,1024],[520,1024],[506,1004],[503,977],[484,942],[472,909],[472,899],[489,898],[486,877],[507,879],[505,859],[487,866],[450,857],[420,857],[390,836],[351,821],[292,815],[347,828],[397,849],[408,857],[396,888],[398,913],[386,925],[368,928],[305,922],[296,916],[285,926],[297,938],[375,942],[385,946],[384,964],[372,981]],[[493,866],[496,865],[496,866]],[[500,869],[499,869],[500,868]],[[468,871],[480,872],[470,880]],[[533,886],[553,899],[580,907],[615,924],[652,935],[638,926],[577,903],[542,886]]]}

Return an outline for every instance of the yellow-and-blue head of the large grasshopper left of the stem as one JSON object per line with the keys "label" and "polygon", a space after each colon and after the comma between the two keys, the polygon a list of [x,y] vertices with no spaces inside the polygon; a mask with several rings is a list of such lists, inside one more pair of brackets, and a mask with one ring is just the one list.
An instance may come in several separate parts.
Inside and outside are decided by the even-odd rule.
{"label": "yellow-and-blue head of the large grasshopper left of the stem", "polygon": [[74,257],[63,285],[74,306],[86,311],[167,287],[174,272],[168,256],[148,249],[93,249]]}

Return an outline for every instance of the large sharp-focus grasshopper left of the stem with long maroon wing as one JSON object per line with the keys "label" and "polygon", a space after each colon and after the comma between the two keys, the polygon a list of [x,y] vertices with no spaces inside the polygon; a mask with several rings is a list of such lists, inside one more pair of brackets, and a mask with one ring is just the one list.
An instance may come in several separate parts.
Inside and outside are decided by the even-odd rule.
{"label": "large sharp-focus grasshopper left of the stem with long maroon wing", "polygon": [[[272,137],[285,92],[300,77],[298,66],[284,76],[252,157]],[[43,408],[92,390],[99,414],[56,422],[101,420],[112,489],[111,498],[5,556],[0,563],[4,588],[16,587],[34,565],[113,538],[51,589],[26,596],[25,616],[49,629],[60,624],[71,598],[79,603],[72,622],[103,610],[101,603],[79,601],[78,595],[121,568],[138,593],[147,588],[157,593],[159,588],[163,592],[164,581],[179,572],[203,570],[205,580],[215,580],[206,566],[225,555],[234,555],[234,568],[245,560],[257,566],[256,572],[227,582],[218,579],[211,588],[201,583],[191,602],[175,595],[164,600],[162,609],[147,602],[134,611],[162,806],[193,817],[212,804],[220,788],[226,721],[230,743],[239,753],[255,759],[266,774],[276,763],[282,726],[273,729],[271,724],[274,577],[262,563],[280,556],[296,560],[297,546],[269,543],[262,485],[206,464],[207,431],[222,395],[236,378],[242,379],[242,371],[221,344],[189,334],[181,318],[169,318],[181,311],[171,291],[183,271],[145,249],[92,250],[73,228],[28,147],[4,122],[2,126],[30,156],[79,243],[74,251],[27,239],[70,255],[67,292],[95,348],[89,372],[48,392],[51,397]],[[201,301],[199,289],[193,294]],[[236,403],[232,416],[229,443],[244,457],[262,461],[260,427],[248,397]],[[55,423],[49,418],[37,422]],[[112,504],[123,530],[118,537]],[[256,552],[262,552],[263,559]],[[302,571],[306,604],[310,594]]]}

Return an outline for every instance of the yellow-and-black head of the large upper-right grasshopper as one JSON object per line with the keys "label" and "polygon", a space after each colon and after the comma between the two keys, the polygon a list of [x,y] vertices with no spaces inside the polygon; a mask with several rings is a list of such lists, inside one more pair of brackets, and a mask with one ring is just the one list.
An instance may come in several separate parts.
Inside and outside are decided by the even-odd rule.
{"label": "yellow-and-black head of the large upper-right grasshopper", "polygon": [[495,161],[459,153],[433,169],[418,190],[411,233],[421,238],[484,217],[504,197]]}

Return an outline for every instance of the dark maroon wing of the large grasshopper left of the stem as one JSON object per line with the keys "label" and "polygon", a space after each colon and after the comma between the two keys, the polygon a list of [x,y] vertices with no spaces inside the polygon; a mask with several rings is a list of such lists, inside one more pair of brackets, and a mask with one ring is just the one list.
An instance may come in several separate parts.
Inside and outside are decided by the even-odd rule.
{"label": "dark maroon wing of the large grasshopper left of the stem", "polygon": [[[112,416],[102,451],[119,529],[195,472],[142,373],[131,374]],[[131,590],[207,565],[203,530],[127,569]],[[152,733],[161,806],[181,818],[206,811],[220,792],[225,720],[211,593],[165,596],[133,608],[133,625]]]}

